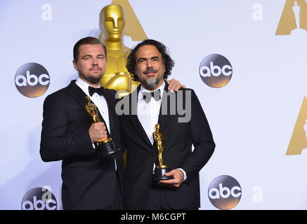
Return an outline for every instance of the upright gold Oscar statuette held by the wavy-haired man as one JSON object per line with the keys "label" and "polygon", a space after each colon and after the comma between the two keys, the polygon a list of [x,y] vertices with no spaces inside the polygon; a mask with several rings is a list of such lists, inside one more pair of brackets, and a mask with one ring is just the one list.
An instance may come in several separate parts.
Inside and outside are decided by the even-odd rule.
{"label": "upright gold Oscar statuette held by the wavy-haired man", "polygon": [[164,176],[165,173],[170,172],[171,168],[169,165],[163,164],[163,151],[164,151],[164,134],[160,131],[160,125],[155,125],[155,132],[152,133],[155,144],[157,146],[157,155],[159,165],[155,167],[155,174],[153,175],[153,181],[159,182],[162,180],[174,179],[174,176]]}

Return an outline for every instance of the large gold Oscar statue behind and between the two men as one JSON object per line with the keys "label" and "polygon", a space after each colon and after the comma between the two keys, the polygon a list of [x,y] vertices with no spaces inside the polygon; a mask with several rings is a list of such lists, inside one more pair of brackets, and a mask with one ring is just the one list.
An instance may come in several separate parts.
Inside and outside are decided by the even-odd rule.
{"label": "large gold Oscar statue behind and between the two men", "polygon": [[124,45],[125,25],[126,18],[122,6],[112,4],[100,11],[99,38],[107,48],[107,65],[100,85],[116,90],[120,97],[131,93],[139,84],[131,80],[126,69],[126,54],[131,49]]}

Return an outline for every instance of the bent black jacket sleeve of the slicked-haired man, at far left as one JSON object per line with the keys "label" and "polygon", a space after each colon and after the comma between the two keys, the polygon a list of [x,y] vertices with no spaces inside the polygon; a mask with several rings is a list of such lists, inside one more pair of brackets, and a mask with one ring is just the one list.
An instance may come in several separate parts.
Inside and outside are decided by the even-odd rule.
{"label": "bent black jacket sleeve of the slicked-haired man, at far left", "polygon": [[67,133],[68,125],[71,125],[69,110],[72,109],[65,105],[59,96],[51,94],[44,101],[39,151],[44,162],[95,153],[86,127],[81,128],[76,125],[73,133]]}

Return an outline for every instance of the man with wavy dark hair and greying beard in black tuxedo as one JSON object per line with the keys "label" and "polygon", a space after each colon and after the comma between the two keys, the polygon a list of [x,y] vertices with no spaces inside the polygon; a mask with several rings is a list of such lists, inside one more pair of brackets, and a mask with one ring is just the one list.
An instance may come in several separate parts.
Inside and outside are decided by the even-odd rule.
{"label": "man with wavy dark hair and greying beard in black tuxedo", "polygon": [[[200,207],[199,172],[211,158],[215,144],[195,92],[182,88],[168,91],[164,79],[173,66],[165,45],[150,39],[136,45],[127,57],[126,68],[141,85],[117,106],[127,148],[126,209]],[[152,174],[159,163],[152,133],[157,123],[164,134],[164,165],[171,167],[165,176],[174,179],[155,184]]]}

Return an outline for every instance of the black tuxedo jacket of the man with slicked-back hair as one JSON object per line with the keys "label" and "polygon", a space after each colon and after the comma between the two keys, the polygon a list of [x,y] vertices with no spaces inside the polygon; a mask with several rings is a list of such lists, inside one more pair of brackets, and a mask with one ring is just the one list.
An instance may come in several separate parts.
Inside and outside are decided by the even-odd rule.
{"label": "black tuxedo jacket of the man with slicked-back hair", "polygon": [[[63,209],[107,209],[115,197],[115,160],[121,182],[124,178],[122,151],[98,158],[89,136],[91,117],[85,111],[86,94],[72,80],[70,85],[48,95],[44,102],[41,158],[62,162]],[[110,135],[122,149],[119,117],[115,114],[115,91],[105,91]]]}

